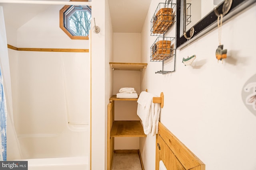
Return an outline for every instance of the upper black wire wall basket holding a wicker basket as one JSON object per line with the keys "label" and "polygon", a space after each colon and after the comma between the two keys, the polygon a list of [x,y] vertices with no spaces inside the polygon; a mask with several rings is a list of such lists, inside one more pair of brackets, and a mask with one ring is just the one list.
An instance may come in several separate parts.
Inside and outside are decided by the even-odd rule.
{"label": "upper black wire wall basket holding a wicker basket", "polygon": [[159,3],[150,21],[150,35],[162,35],[166,33],[175,22],[176,4]]}

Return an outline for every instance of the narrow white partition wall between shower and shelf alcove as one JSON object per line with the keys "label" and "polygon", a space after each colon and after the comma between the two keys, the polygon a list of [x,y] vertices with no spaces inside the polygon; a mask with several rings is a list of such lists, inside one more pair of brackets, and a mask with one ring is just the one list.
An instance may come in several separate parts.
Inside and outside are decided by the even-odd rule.
{"label": "narrow white partition wall between shower and shelf alcove", "polygon": [[93,0],[92,3],[92,18],[100,32],[92,32],[91,169],[104,170],[107,168],[107,105],[113,93],[109,65],[113,60],[113,31],[108,0]]}

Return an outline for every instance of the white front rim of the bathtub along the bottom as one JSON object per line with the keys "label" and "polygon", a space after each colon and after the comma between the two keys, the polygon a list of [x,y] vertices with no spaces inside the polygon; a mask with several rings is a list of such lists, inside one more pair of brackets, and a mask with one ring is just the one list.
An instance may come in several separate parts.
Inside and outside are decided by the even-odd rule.
{"label": "white front rim of the bathtub along the bottom", "polygon": [[28,170],[89,170],[88,156],[24,159]]}

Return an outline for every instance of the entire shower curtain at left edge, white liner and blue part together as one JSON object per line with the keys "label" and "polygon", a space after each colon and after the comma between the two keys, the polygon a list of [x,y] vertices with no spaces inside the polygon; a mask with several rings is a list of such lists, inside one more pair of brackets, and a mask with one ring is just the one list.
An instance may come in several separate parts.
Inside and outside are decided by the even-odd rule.
{"label": "entire shower curtain at left edge, white liner and blue part together", "polygon": [[0,6],[0,70],[0,160],[20,159],[22,156],[13,123],[11,76],[2,6]]}

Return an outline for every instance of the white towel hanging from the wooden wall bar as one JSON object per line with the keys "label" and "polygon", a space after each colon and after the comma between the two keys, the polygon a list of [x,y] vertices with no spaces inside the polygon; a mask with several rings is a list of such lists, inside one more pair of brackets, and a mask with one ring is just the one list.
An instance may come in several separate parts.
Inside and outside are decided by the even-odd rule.
{"label": "white towel hanging from the wooden wall bar", "polygon": [[143,130],[146,135],[154,136],[158,133],[160,104],[153,103],[153,94],[141,92],[138,98],[137,115],[142,120]]}

